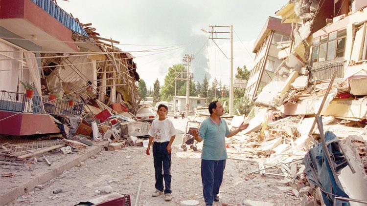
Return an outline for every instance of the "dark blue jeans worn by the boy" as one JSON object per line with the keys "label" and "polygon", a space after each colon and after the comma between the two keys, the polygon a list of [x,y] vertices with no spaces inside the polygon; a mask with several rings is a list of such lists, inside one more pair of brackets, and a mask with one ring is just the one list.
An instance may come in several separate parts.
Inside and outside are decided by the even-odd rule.
{"label": "dark blue jeans worn by the boy", "polygon": [[[167,152],[169,142],[153,144],[154,169],[156,170],[156,189],[163,191],[164,178],[164,194],[171,193],[171,154]],[[163,174],[162,174],[163,167]]]}

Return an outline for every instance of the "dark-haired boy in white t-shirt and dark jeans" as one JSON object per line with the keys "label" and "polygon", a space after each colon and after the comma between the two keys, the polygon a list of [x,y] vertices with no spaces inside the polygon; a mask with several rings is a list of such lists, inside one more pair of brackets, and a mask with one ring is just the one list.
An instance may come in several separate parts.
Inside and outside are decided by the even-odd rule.
{"label": "dark-haired boy in white t-shirt and dark jeans", "polygon": [[[165,183],[164,200],[172,200],[171,191],[171,145],[176,137],[176,129],[172,122],[166,119],[168,107],[164,104],[158,106],[159,119],[154,120],[149,129],[149,144],[146,154],[150,155],[149,150],[153,144],[154,169],[156,170],[156,191],[153,197],[163,194],[163,178]],[[163,167],[163,175],[162,175]]]}

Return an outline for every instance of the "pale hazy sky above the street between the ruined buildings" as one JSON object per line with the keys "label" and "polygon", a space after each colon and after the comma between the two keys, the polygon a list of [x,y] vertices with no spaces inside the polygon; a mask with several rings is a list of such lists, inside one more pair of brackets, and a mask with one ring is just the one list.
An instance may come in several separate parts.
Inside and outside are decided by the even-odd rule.
{"label": "pale hazy sky above the street between the ruined buildings", "polygon": [[[208,34],[209,25],[233,25],[233,75],[236,68],[251,69],[253,43],[269,16],[288,0],[57,0],[66,12],[81,23],[92,23],[104,38],[120,41],[123,51],[136,58],[138,73],[147,88],[156,79],[162,85],[168,68],[183,63],[193,54],[190,71],[194,81],[206,75],[229,85],[230,61]],[[217,28],[229,31],[229,28]],[[229,38],[229,34],[218,38]],[[230,41],[215,40],[227,57]],[[127,45],[130,44],[130,45]],[[146,51],[151,50],[151,51]],[[145,52],[143,52],[145,51]],[[173,83],[173,82],[172,82]]]}

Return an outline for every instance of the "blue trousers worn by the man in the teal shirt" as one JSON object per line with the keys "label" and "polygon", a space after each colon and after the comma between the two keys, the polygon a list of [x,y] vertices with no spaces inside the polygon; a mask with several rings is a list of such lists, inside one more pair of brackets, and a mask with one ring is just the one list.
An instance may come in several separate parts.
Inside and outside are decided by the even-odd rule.
{"label": "blue trousers worn by the man in the teal shirt", "polygon": [[201,180],[205,204],[211,206],[222,185],[226,160],[201,160]]}

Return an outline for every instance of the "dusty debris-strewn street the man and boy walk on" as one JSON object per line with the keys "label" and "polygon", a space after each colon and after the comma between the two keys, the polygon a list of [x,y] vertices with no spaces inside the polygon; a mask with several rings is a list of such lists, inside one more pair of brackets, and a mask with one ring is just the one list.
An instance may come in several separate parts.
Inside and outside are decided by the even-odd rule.
{"label": "dusty debris-strewn street the man and boy walk on", "polygon": [[[73,167],[56,179],[48,181],[41,189],[35,188],[28,195],[18,198],[9,205],[34,206],[70,206],[91,199],[98,194],[98,189],[110,185],[113,190],[122,194],[130,194],[134,205],[139,182],[142,181],[139,205],[182,205],[185,200],[197,200],[204,205],[200,174],[199,151],[181,149],[185,120],[174,120],[178,129],[172,155],[172,190],[173,200],[165,202],[163,196],[153,198],[154,188],[153,156],[147,156],[142,147],[129,146],[119,151],[103,151],[87,161]],[[275,206],[299,205],[300,200],[294,196],[282,193],[279,188],[285,186],[282,179],[262,177],[258,173],[246,176],[258,168],[257,159],[245,158],[241,155],[229,158],[242,160],[227,160],[225,175],[220,192],[220,202],[229,205],[251,205],[251,201],[273,203]],[[62,154],[60,154],[62,155]],[[95,159],[94,159],[95,158]],[[107,175],[107,179],[91,186],[85,185]],[[283,183],[282,183],[283,182]],[[62,189],[65,192],[53,194],[52,191]],[[250,201],[251,200],[251,201]],[[253,204],[253,203],[252,203]]]}

